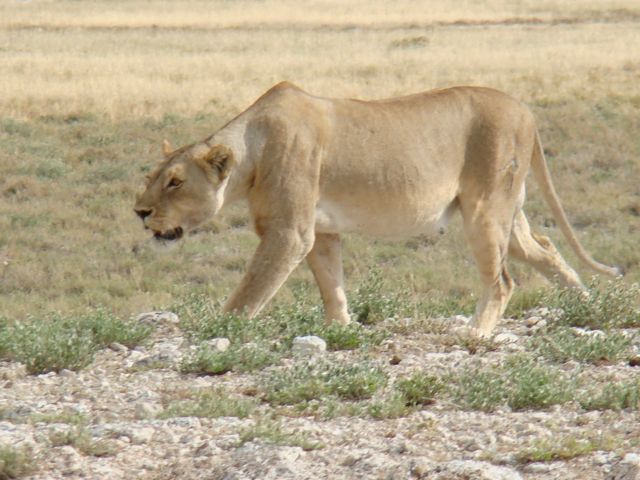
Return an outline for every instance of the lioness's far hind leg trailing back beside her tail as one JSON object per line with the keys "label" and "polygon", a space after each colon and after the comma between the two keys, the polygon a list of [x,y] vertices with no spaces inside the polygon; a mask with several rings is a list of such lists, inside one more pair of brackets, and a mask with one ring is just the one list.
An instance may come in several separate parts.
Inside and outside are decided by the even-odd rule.
{"label": "lioness's far hind leg trailing back beside her tail", "polygon": [[566,287],[585,289],[578,274],[562,258],[553,243],[547,237],[531,232],[522,210],[516,214],[513,222],[509,255],[528,263],[549,280],[558,281]]}

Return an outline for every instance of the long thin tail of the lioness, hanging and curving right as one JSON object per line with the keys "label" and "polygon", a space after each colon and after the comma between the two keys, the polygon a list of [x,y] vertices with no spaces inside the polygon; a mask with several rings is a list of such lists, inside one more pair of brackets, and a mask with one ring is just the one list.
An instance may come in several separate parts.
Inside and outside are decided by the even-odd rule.
{"label": "long thin tail of the lioness, hanging and curving right", "polygon": [[623,275],[623,271],[620,268],[609,267],[602,263],[596,262],[578,241],[575,232],[569,224],[567,215],[562,208],[562,204],[560,203],[560,198],[556,193],[556,189],[551,182],[551,175],[549,174],[549,168],[547,167],[547,161],[544,157],[542,142],[540,141],[540,135],[538,132],[536,132],[536,145],[533,149],[531,169],[533,170],[533,175],[538,185],[540,186],[540,190],[542,190],[544,199],[551,208],[553,217],[558,222],[560,230],[562,230],[562,233],[569,242],[569,245],[571,245],[571,248],[574,252],[576,252],[576,255],[578,255],[580,260],[582,260],[586,265],[598,272],[602,272],[613,277]]}

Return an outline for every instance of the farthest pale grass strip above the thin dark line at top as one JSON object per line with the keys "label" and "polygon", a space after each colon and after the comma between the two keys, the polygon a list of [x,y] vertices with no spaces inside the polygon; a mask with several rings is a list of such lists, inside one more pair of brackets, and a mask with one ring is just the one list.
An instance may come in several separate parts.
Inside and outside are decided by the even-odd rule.
{"label": "farthest pale grass strip above the thin dark line at top", "polygon": [[112,28],[112,27],[242,27],[282,24],[308,28],[315,25],[387,26],[403,23],[460,23],[512,19],[564,20],[611,18],[637,9],[634,0],[446,0],[396,2],[324,0],[262,1],[6,1],[0,7],[5,28]]}

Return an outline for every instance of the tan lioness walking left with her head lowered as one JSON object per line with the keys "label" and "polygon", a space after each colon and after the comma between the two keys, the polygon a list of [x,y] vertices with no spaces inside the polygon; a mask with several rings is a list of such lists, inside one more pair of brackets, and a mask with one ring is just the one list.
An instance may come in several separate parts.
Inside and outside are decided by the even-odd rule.
{"label": "tan lioness walking left with her head lowered", "polygon": [[513,291],[507,256],[584,289],[522,211],[533,170],[578,257],[594,261],[554,190],[533,115],[496,90],[454,87],[379,101],[329,99],[280,83],[202,142],[172,151],[148,177],[135,211],[156,239],[177,240],[223,205],[248,200],[260,237],[225,311],[256,315],[305,258],[327,321],[350,321],[341,233],[410,236],[462,214],[484,291],[471,331],[488,336]]}

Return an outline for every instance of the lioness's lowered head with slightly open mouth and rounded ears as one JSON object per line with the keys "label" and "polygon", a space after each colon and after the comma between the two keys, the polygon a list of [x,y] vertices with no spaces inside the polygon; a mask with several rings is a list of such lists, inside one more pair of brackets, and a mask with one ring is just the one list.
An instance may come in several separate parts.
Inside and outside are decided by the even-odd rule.
{"label": "lioness's lowered head with slightly open mouth and rounded ears", "polygon": [[165,140],[163,150],[165,158],[147,177],[134,210],[156,240],[178,240],[220,210],[234,159],[224,145],[172,151]]}

